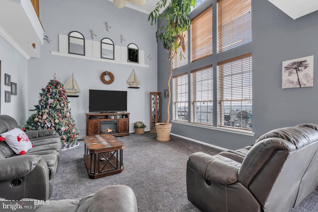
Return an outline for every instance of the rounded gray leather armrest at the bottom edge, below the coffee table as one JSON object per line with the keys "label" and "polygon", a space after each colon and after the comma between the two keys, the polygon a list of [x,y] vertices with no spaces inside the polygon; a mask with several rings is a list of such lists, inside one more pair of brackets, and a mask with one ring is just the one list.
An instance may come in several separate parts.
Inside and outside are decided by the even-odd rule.
{"label": "rounded gray leather armrest at the bottom edge, below the coffee table", "polygon": [[[109,195],[111,194],[111,195]],[[137,212],[133,190],[125,185],[107,186],[98,190],[91,199],[87,212]]]}

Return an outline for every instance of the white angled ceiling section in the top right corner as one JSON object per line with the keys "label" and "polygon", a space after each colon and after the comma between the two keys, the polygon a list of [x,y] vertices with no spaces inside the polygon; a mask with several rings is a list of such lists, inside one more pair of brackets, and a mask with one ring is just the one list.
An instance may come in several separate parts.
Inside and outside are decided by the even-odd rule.
{"label": "white angled ceiling section in the top right corner", "polygon": [[293,19],[318,10],[318,0],[268,0]]}

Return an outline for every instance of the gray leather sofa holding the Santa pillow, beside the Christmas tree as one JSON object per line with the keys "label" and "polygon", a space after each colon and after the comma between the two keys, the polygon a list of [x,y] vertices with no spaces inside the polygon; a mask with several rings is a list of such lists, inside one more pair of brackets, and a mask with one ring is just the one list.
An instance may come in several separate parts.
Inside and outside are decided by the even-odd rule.
{"label": "gray leather sofa holding the Santa pillow, beside the Christmas tree", "polygon": [[[0,134],[20,128],[10,116],[0,115]],[[0,142],[0,197],[8,200],[50,198],[61,153],[61,138],[54,130],[25,132],[33,147],[15,154]]]}

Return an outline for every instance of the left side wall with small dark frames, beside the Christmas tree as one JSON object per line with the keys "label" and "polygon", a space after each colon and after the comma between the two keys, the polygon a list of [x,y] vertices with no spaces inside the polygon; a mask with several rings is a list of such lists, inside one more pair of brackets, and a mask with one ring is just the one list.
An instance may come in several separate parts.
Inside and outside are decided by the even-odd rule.
{"label": "left side wall with small dark frames, beside the Christmas tree", "polygon": [[[21,32],[22,33],[22,32]],[[12,116],[19,125],[25,124],[27,118],[27,60],[16,51],[2,36],[0,36],[1,61],[1,114]],[[11,102],[4,102],[4,91],[11,87],[4,85],[4,73],[11,76],[11,81],[17,83],[17,95],[11,95]]]}

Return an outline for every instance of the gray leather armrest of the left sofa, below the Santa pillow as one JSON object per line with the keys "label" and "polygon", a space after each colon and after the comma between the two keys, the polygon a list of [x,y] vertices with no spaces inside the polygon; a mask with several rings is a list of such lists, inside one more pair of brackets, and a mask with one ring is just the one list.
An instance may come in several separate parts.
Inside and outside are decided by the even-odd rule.
{"label": "gray leather armrest of the left sofa, below the Santa pillow", "polygon": [[16,179],[31,172],[41,160],[38,155],[18,155],[0,160],[0,182]]}

